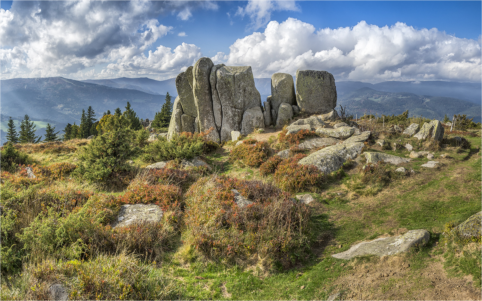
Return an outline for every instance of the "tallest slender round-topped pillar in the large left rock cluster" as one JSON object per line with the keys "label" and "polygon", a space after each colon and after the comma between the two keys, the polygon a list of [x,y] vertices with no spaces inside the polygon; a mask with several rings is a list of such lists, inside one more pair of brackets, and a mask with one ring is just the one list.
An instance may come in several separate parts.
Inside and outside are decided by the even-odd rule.
{"label": "tallest slender round-topped pillar in the large left rock cluster", "polygon": [[[192,69],[192,90],[198,111],[200,131],[207,131],[215,125],[210,84],[211,69],[213,67],[214,64],[210,58],[201,57]],[[219,131],[217,131],[216,127],[207,135],[207,138],[216,143],[220,142]]]}

